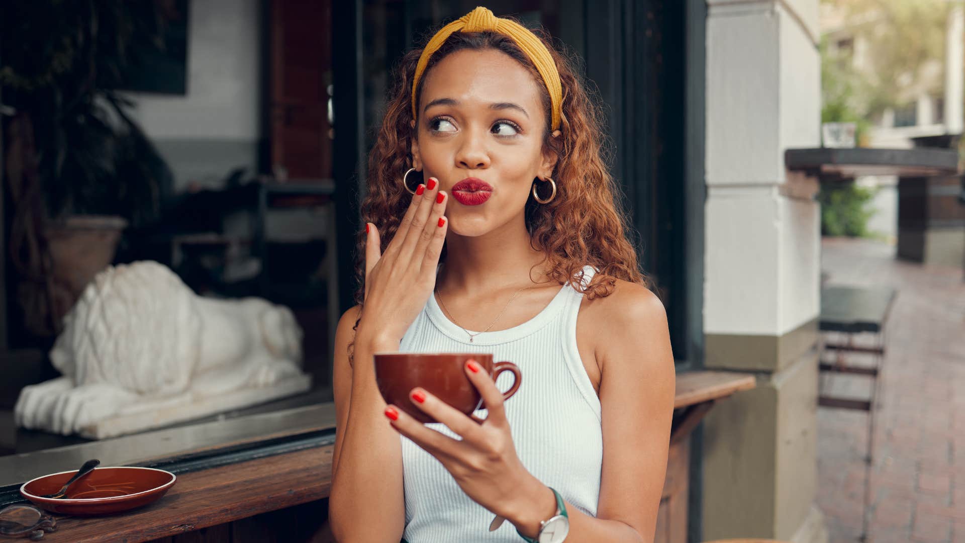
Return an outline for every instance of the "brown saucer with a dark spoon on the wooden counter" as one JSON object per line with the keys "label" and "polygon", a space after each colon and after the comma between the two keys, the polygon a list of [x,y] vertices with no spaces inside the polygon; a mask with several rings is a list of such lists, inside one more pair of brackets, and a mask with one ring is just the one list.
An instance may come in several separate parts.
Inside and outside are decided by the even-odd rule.
{"label": "brown saucer with a dark spoon on the wooden counter", "polygon": [[41,498],[53,494],[76,473],[52,473],[23,483],[20,494],[34,504],[65,515],[103,515],[147,505],[174,486],[178,477],[154,468],[97,468],[74,483],[67,498]]}

